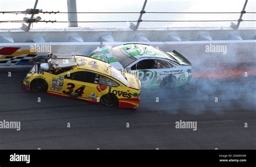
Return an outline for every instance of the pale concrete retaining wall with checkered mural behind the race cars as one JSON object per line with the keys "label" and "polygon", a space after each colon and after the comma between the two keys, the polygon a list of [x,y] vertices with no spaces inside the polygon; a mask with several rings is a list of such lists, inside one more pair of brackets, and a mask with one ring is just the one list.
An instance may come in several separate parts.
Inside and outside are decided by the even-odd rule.
{"label": "pale concrete retaining wall with checkered mural behind the race cars", "polygon": [[[104,45],[117,46],[131,42],[103,42]],[[218,40],[218,41],[173,41],[173,42],[133,42],[147,43],[159,47],[162,50],[172,52],[177,50],[187,57],[194,66],[202,63],[247,63],[256,62],[256,40]],[[100,42],[33,42],[33,43],[0,43],[0,68],[31,67],[33,57],[36,55],[46,55],[46,53],[31,53],[32,45],[51,46],[52,53],[59,54],[90,54],[96,49]],[[207,47],[226,47],[226,54],[214,52]],[[6,48],[16,48],[14,53],[6,52]],[[1,51],[2,50],[2,51]],[[15,50],[15,49],[14,49]],[[215,50],[216,51],[216,50]],[[218,51],[218,50],[217,50]],[[222,50],[223,51],[223,50]]]}

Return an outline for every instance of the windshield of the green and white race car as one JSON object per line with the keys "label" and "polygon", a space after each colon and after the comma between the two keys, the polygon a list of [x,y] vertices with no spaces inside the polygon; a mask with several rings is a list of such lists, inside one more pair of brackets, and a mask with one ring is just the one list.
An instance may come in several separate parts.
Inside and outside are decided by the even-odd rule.
{"label": "windshield of the green and white race car", "polygon": [[111,55],[114,59],[116,59],[123,68],[129,66],[132,62],[136,61],[137,59],[131,55],[129,55],[122,46],[117,46],[111,49]]}

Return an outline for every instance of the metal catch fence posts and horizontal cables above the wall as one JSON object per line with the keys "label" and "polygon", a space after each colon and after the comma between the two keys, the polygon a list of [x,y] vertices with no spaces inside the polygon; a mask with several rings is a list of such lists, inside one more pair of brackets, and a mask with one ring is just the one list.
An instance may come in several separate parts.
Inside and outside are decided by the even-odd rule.
{"label": "metal catch fence posts and horizontal cables above the wall", "polygon": [[[25,17],[23,20],[0,20],[0,23],[23,23],[22,24],[22,30],[29,31],[31,24],[33,23],[69,23],[69,27],[78,27],[78,23],[129,23],[130,28],[132,30],[138,30],[140,23],[149,23],[149,22],[223,22],[223,21],[232,21],[231,26],[235,30],[237,30],[240,26],[240,23],[242,21],[256,21],[252,19],[245,19],[243,20],[242,17],[246,13],[255,14],[256,12],[246,12],[246,5],[248,0],[245,0],[244,6],[242,8],[242,11],[240,12],[166,12],[166,11],[146,11],[146,4],[147,0],[144,1],[142,9],[140,12],[77,12],[77,6],[76,6],[76,0],[67,0],[68,2],[68,11],[66,12],[60,12],[60,11],[43,11],[36,9],[38,0],[35,1],[35,5],[33,9],[27,9],[25,11],[0,11],[0,13],[14,13],[14,14],[31,14],[31,17]],[[68,14],[68,20],[66,21],[58,21],[58,20],[42,20],[41,17],[36,17],[35,14]],[[139,14],[139,17],[137,20],[103,20],[103,21],[97,21],[97,20],[77,20],[77,14]],[[143,19],[144,14],[146,13],[158,13],[158,14],[240,14],[239,18],[236,19],[227,19],[227,20],[149,20],[149,19]],[[237,24],[233,23],[234,21],[238,21]],[[28,24],[25,25],[24,23]]]}

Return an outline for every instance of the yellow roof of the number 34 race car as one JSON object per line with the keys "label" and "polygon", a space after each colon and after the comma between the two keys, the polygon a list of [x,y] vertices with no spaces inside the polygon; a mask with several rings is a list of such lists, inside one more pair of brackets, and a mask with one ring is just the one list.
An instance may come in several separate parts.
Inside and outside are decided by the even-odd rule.
{"label": "yellow roof of the number 34 race car", "polygon": [[96,71],[111,76],[111,65],[92,57],[75,55],[77,60],[77,69],[86,69]]}

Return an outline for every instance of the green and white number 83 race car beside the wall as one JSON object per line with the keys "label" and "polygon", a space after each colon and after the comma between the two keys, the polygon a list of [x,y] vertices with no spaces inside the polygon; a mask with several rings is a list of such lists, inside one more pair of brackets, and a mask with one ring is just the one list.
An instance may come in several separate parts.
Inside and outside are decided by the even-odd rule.
{"label": "green and white number 83 race car beside the wall", "polygon": [[137,74],[143,88],[170,89],[191,81],[191,63],[175,50],[164,52],[150,45],[129,43],[98,47],[89,56]]}

